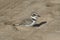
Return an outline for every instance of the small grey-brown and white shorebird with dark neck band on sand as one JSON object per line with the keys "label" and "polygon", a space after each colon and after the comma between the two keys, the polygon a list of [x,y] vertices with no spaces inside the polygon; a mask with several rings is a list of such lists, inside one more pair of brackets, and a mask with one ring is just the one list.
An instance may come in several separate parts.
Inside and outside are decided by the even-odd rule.
{"label": "small grey-brown and white shorebird with dark neck band on sand", "polygon": [[14,24],[14,26],[33,26],[36,24],[38,17],[40,17],[40,15],[36,12],[33,12],[30,18],[24,19],[20,24]]}

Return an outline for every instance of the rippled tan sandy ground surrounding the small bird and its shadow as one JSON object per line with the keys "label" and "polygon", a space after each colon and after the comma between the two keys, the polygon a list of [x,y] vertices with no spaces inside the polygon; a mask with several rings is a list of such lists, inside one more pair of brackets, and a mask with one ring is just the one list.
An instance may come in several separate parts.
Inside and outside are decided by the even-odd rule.
{"label": "rippled tan sandy ground surrounding the small bird and its shadow", "polygon": [[[12,26],[32,12],[41,16],[37,22],[47,23],[19,31]],[[0,0],[0,40],[60,40],[60,0]]]}

